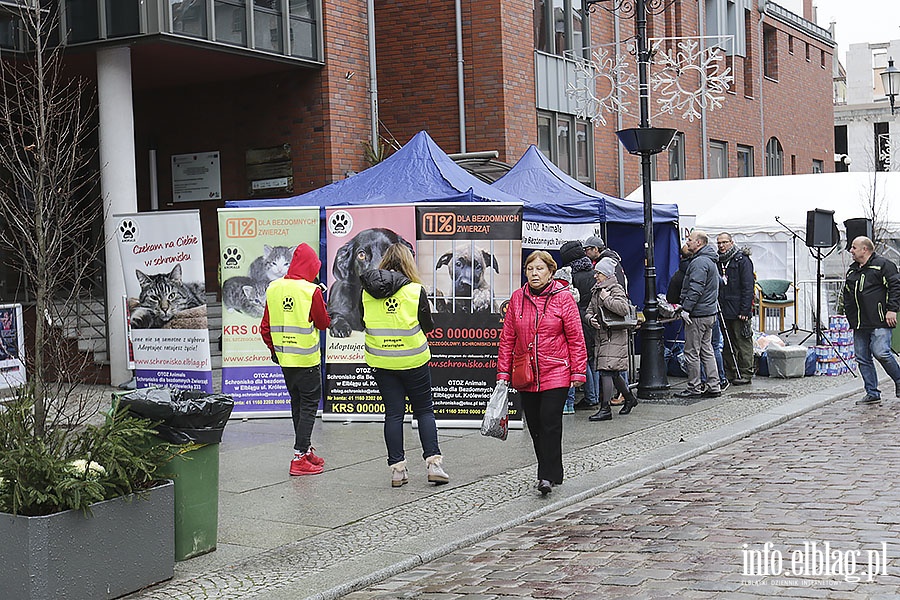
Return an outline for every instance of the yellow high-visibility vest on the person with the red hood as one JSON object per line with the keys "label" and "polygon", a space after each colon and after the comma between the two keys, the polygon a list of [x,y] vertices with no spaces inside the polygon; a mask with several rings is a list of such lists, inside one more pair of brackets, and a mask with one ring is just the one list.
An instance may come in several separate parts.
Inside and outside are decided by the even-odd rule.
{"label": "yellow high-visibility vest on the person with the red hood", "polygon": [[305,279],[284,277],[266,289],[272,344],[282,367],[315,367],[321,362],[319,332],[309,320],[316,289]]}

